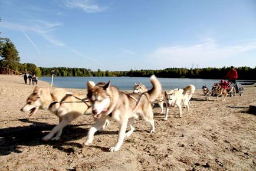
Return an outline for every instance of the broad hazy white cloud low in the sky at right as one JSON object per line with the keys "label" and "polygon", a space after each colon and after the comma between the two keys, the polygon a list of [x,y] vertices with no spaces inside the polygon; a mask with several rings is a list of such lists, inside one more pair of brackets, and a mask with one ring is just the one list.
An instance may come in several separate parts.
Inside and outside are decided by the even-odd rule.
{"label": "broad hazy white cloud low in the sky at right", "polygon": [[235,55],[242,52],[255,50],[256,42],[248,42],[239,45],[218,45],[215,40],[207,39],[198,44],[182,47],[161,47],[151,52],[147,57],[162,67],[191,67],[192,64],[201,66],[230,65],[225,61],[232,62]]}

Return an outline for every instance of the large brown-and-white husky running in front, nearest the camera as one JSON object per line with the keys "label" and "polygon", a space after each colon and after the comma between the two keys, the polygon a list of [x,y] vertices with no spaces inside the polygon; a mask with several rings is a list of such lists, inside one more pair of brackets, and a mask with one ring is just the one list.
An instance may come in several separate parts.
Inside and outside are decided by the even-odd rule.
{"label": "large brown-and-white husky running in front, nearest the camera", "polygon": [[[142,94],[127,94],[124,91],[119,91],[117,87],[110,85],[110,81],[107,84],[98,83],[96,85],[94,82],[88,81],[87,97],[91,103],[96,122],[88,131],[87,140],[84,144],[88,145],[93,142],[94,133],[106,123],[106,119],[117,120],[120,124],[117,143],[114,147],[110,147],[110,152],[119,150],[124,137],[129,137],[133,133],[133,122],[139,116],[150,123],[150,133],[155,132],[151,103],[159,96],[162,87],[155,75],[151,76],[150,81],[153,88]],[[126,133],[127,125],[130,126],[130,130]]]}

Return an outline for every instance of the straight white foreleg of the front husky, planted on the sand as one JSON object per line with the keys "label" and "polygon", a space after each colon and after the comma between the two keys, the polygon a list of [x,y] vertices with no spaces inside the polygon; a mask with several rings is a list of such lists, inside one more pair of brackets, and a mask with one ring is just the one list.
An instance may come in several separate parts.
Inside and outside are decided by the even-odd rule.
{"label": "straight white foreleg of the front husky, planted on the sand", "polygon": [[128,123],[127,119],[124,119],[122,123],[120,123],[117,143],[114,147],[110,147],[109,149],[110,152],[116,152],[122,146],[124,137],[126,136],[125,131],[126,131],[127,123]]}

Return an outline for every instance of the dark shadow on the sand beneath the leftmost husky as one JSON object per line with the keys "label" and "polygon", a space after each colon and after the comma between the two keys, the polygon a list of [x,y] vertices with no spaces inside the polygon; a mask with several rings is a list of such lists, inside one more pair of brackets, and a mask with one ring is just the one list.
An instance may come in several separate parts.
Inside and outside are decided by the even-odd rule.
{"label": "dark shadow on the sand beneath the leftmost husky", "polygon": [[[19,146],[38,146],[45,144],[57,148],[63,152],[71,153],[73,148],[64,148],[63,146],[71,146],[82,148],[80,143],[68,142],[86,137],[88,129],[78,126],[87,126],[91,124],[67,125],[63,129],[61,138],[58,141],[42,141],[42,137],[49,133],[55,124],[41,123],[31,121],[29,119],[19,119],[25,123],[32,123],[29,126],[8,127],[0,129],[0,156],[8,155],[11,152],[22,153]],[[44,132],[45,131],[45,132]]]}

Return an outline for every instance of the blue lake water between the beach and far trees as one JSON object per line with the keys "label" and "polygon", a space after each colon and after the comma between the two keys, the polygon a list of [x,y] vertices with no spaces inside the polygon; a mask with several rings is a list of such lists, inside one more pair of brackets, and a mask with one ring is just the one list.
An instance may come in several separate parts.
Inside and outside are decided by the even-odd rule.
{"label": "blue lake water between the beach and far trees", "polygon": [[[220,80],[210,79],[191,79],[191,78],[158,78],[162,84],[163,90],[171,90],[173,88],[184,88],[186,85],[193,84],[196,89],[201,89],[202,85],[211,88],[214,83]],[[40,80],[47,81],[51,84],[51,77],[41,77]],[[87,81],[94,83],[111,81],[111,85],[115,85],[119,90],[133,90],[134,83],[146,85],[148,89],[152,87],[150,78],[145,77],[54,77],[53,86],[63,88],[80,88],[86,89]]]}

